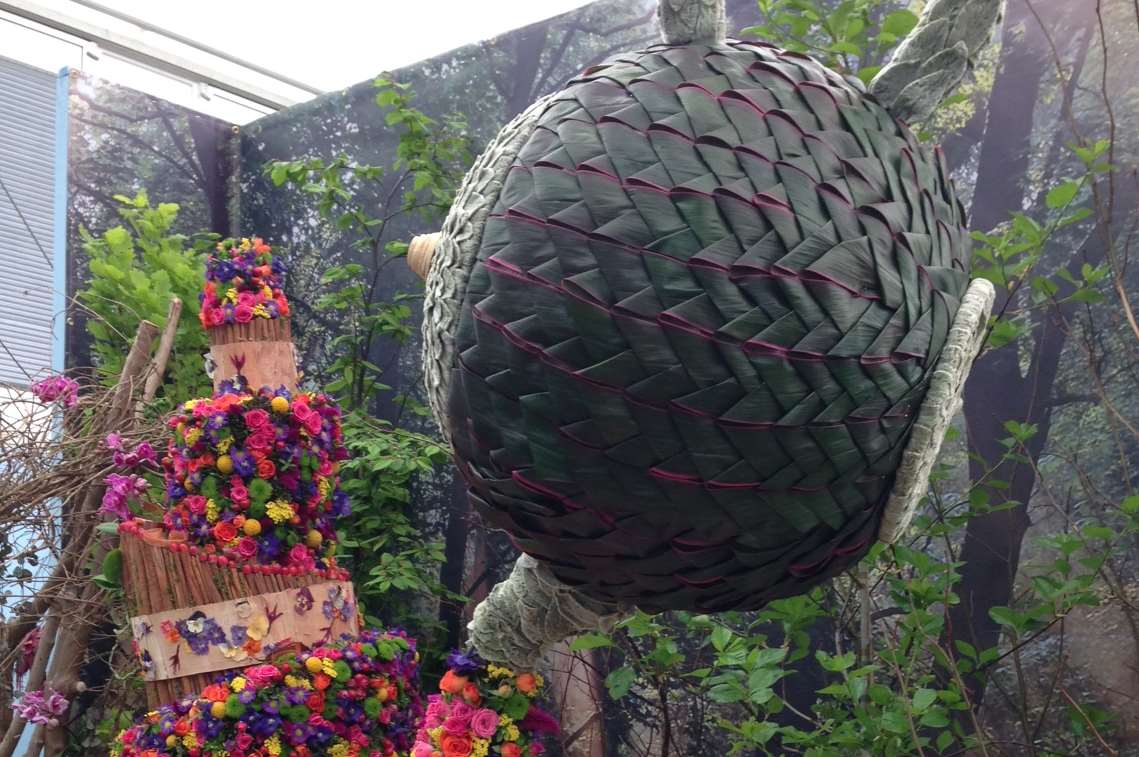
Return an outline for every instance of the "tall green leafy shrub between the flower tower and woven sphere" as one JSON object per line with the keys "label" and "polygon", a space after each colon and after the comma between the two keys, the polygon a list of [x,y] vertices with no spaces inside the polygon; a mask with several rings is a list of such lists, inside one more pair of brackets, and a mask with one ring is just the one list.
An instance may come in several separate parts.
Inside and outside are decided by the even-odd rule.
{"label": "tall green leafy shrub between the flower tower and woven sphere", "polygon": [[[399,132],[391,165],[366,165],[347,155],[330,161],[309,157],[274,162],[265,167],[271,181],[311,195],[318,213],[335,227],[360,260],[330,265],[321,275],[318,313],[337,323],[328,353],[325,389],[345,410],[345,442],[352,460],[342,467],[342,483],[353,515],[339,536],[341,558],[357,583],[368,614],[385,624],[413,626],[429,641],[429,623],[412,612],[417,596],[456,599],[437,579],[443,561],[439,540],[427,538],[415,518],[411,485],[448,459],[435,439],[402,429],[404,413],[425,409],[410,396],[394,397],[394,420],[371,417],[377,401],[391,396],[386,371],[412,336],[413,291],[382,296],[391,265],[408,250],[394,229],[408,220],[437,224],[450,207],[469,164],[466,123],[459,116],[433,120],[413,106],[408,84],[386,76],[376,80],[376,104],[388,126]],[[377,204],[375,197],[380,197]],[[379,365],[374,356],[391,355]]]}

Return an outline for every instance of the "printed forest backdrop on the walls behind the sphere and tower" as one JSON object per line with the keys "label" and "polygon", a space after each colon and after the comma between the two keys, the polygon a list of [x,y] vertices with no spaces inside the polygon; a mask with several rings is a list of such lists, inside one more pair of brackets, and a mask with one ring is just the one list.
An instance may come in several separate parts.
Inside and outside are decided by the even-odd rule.
{"label": "printed forest backdrop on the walls behind the sphere and tower", "polygon": [[[760,0],[759,6],[792,13],[795,3]],[[601,0],[392,72],[387,79],[410,87],[410,105],[469,139],[477,154],[510,117],[576,72],[611,54],[652,43],[654,7],[653,0]],[[761,22],[755,0],[729,0],[728,7],[729,28],[736,32]],[[795,24],[788,17],[780,27],[794,35]],[[931,123],[916,126],[942,143],[972,207],[972,228],[1014,234],[1003,237],[1013,239],[1005,247],[983,242],[978,269],[1000,282],[1016,265],[1031,263],[1036,275],[1011,288],[998,287],[997,307],[1007,318],[969,380],[962,422],[947,445],[931,497],[931,507],[964,501],[980,515],[968,519],[951,546],[939,543],[940,537],[931,535],[934,530],[915,533],[910,545],[931,554],[957,554],[962,563],[956,587],[961,601],[948,608],[950,626],[968,630],[973,645],[985,649],[1009,630],[1008,619],[990,610],[1015,604],[1031,589],[1025,576],[1036,561],[1051,560],[1042,540],[1055,545],[1087,520],[1111,517],[1139,484],[1139,326],[1130,307],[1139,293],[1139,272],[1129,264],[1139,164],[1139,8],[1132,0],[1009,0],[997,43],[973,73],[970,83]],[[327,175],[322,184],[317,174],[293,163],[293,173],[274,176],[272,162],[320,158],[327,165],[343,154],[354,164],[391,166],[398,151],[410,147],[399,138],[408,124],[391,123],[387,114],[409,90],[380,89],[388,92],[382,102],[375,82],[368,81],[237,129],[122,88],[75,79],[68,214],[73,293],[88,280],[81,228],[95,234],[106,231],[120,222],[121,200],[114,196],[136,197],[145,190],[154,203],[180,206],[175,231],[257,233],[285,250],[294,332],[306,377],[321,386],[335,381],[342,368],[336,338],[344,335],[346,321],[337,318],[335,307],[320,305],[330,288],[344,286],[343,280],[329,282],[329,269],[359,265],[341,270],[362,281],[375,279],[378,299],[413,294],[421,285],[401,260],[387,264],[387,256],[375,254],[375,248],[354,244],[360,232],[351,222],[329,222],[320,208]],[[1083,192],[1081,201],[1096,212],[1042,234],[1025,219],[1039,220],[1034,208],[1065,199],[1067,190],[1055,190],[1083,171],[1082,157],[1072,149],[1081,140],[1111,140],[1109,154],[1092,158],[1111,164],[1111,180],[1103,183],[1106,190],[1095,192],[1087,182],[1077,184],[1072,191]],[[449,159],[460,162],[459,153],[456,147]],[[354,175],[345,190],[359,207],[384,214],[403,192],[398,176],[398,171]],[[441,198],[445,183],[441,180]],[[386,239],[405,241],[434,230],[437,220],[431,209],[395,214]],[[1013,221],[1018,213],[1025,216]],[[1033,234],[1043,240],[1039,249],[1029,244]],[[1025,246],[1014,249],[1019,244]],[[1035,249],[1031,261],[1018,257],[1030,248]],[[396,244],[391,249],[401,248]],[[1098,294],[1080,295],[1087,288],[1076,287],[1073,296],[1064,289],[1065,281],[1099,281]],[[402,302],[411,312],[410,331],[395,329],[391,338],[367,345],[368,362],[384,369],[383,381],[391,387],[369,395],[367,406],[377,418],[398,417],[401,426],[433,435],[431,421],[404,398],[418,396],[419,342],[418,301],[412,296]],[[88,364],[90,340],[81,312],[69,336],[71,359]],[[399,620],[419,623],[413,631],[434,634],[440,645],[453,645],[473,607],[461,598],[485,595],[509,569],[515,552],[501,535],[478,527],[436,452],[425,460],[435,464],[423,466],[429,472],[416,477],[410,499],[400,507],[419,541],[437,542],[437,552],[427,559],[440,568],[441,585],[427,592],[435,599],[407,592],[411,598]],[[986,482],[991,485],[982,485]],[[1067,717],[1072,710],[1065,703],[1044,701],[1043,694],[1016,684],[1051,682],[1050,688],[1042,683],[1041,691],[1062,691],[1116,713],[1115,748],[1131,750],[1118,754],[1139,754],[1139,544],[1132,541],[1125,548],[1103,568],[1121,601],[1072,608],[1063,622],[1039,632],[1043,643],[1002,658],[981,710],[986,727],[1010,740],[1032,741],[1032,734],[1014,724],[1039,716],[1039,731],[1049,718]],[[391,584],[390,576],[384,577]],[[396,582],[385,591],[400,587]],[[886,600],[874,619],[888,619],[890,614]],[[810,633],[833,648],[845,631],[820,623]],[[620,665],[613,655],[596,650],[579,652],[577,659],[589,664],[581,668],[587,678],[599,680]],[[1029,673],[1021,675],[1024,670]],[[801,678],[785,680],[780,696],[809,709],[810,674]],[[573,734],[580,739],[575,754],[642,754],[657,729],[647,715],[652,699],[599,706],[603,715],[592,726]],[[1084,710],[1080,715],[1092,723]],[[681,740],[677,754],[698,754],[716,743],[698,705],[678,709],[673,717],[675,732],[682,733],[673,734]]]}

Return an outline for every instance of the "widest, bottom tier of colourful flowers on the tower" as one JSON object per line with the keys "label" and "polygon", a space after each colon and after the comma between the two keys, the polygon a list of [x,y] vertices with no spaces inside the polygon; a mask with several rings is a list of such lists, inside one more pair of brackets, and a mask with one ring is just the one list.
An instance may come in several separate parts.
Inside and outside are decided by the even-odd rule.
{"label": "widest, bottom tier of colourful flowers on the tower", "polygon": [[405,633],[364,631],[230,672],[200,696],[148,713],[118,734],[112,755],[405,755],[423,715],[417,667]]}

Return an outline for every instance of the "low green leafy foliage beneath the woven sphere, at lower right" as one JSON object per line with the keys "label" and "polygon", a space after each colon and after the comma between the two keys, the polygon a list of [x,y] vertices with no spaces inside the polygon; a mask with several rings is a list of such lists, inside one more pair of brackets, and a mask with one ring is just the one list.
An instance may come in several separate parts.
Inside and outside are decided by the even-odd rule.
{"label": "low green leafy foliage beneath the woven sphere, at lower right", "polygon": [[[1009,454],[1031,438],[1029,429],[1014,430]],[[999,482],[989,485],[994,483],[999,487]],[[945,516],[962,508],[972,516],[949,525]],[[970,721],[965,676],[984,680],[1009,656],[1043,641],[1073,608],[1099,602],[1096,586],[1106,557],[1123,554],[1139,535],[1139,505],[1125,502],[1120,510],[1125,517],[1111,525],[1089,524],[1040,540],[1046,557],[1026,570],[1031,587],[1016,607],[991,612],[1006,630],[1005,647],[977,650],[962,640],[949,645],[944,608],[959,601],[959,562],[909,546],[877,545],[860,575],[884,592],[890,619],[874,624],[861,650],[845,634],[835,635],[831,649],[812,639],[820,619],[836,627],[849,619],[849,608],[822,587],[754,614],[637,614],[614,634],[590,633],[573,648],[604,650],[612,658],[605,686],[613,699],[644,700],[653,691],[664,692],[656,699],[663,708],[702,702],[731,755],[972,754],[986,737]],[[919,527],[952,538],[982,511],[988,511],[984,504],[973,507],[968,500],[948,504]],[[685,647],[687,653],[679,653]],[[789,711],[786,683],[802,675],[823,683],[809,711]],[[1114,725],[1111,714],[1092,702],[1070,707],[1070,719],[1071,731],[1063,735],[1068,750],[1055,754],[1093,754]]]}

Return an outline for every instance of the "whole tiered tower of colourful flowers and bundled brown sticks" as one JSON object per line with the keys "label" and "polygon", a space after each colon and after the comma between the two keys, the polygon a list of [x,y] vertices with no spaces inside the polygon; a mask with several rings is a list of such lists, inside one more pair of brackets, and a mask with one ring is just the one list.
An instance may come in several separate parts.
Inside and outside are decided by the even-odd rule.
{"label": "whole tiered tower of colourful flowers and bundled brown sticks", "polygon": [[362,630],[335,523],[339,410],[297,388],[282,265],[219,245],[202,320],[215,392],[169,422],[157,521],[121,524],[133,644],[153,710],[121,755],[410,751],[415,640]]}

